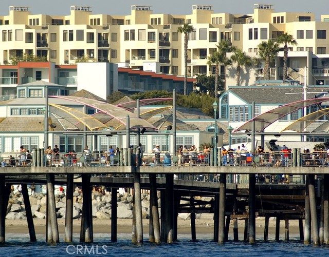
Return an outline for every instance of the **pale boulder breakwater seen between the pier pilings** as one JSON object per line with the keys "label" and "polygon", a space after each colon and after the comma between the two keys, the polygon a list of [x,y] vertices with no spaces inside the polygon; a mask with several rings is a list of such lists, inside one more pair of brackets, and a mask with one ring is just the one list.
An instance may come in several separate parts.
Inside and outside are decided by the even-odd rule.
{"label": "pale boulder breakwater seen between the pier pilings", "polygon": [[[101,194],[99,192],[92,193],[93,217],[108,220],[111,219],[112,208],[112,194],[106,192]],[[118,219],[132,219],[133,218],[133,196],[129,193],[117,193],[117,218]],[[158,195],[159,197],[159,195]],[[34,193],[29,196],[33,218],[46,218],[46,194]],[[150,195],[149,193],[142,193],[142,216],[143,219],[149,219]],[[57,218],[65,219],[65,193],[55,195]],[[74,192],[74,207],[73,219],[79,219],[82,214],[83,193],[79,191]],[[160,201],[160,200],[158,200]],[[160,203],[159,203],[160,204]],[[25,220],[26,212],[23,201],[23,195],[20,192],[11,193],[6,219],[10,220]]]}

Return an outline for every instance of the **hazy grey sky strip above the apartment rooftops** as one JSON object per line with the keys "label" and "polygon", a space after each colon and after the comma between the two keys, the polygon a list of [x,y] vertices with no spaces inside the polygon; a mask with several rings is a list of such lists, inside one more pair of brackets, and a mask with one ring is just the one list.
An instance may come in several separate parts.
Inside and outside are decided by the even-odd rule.
{"label": "hazy grey sky strip above the apartment rooftops", "polygon": [[192,5],[212,5],[214,13],[253,13],[254,4],[272,4],[275,12],[313,12],[316,19],[329,14],[328,0],[1,0],[0,15],[9,14],[9,6],[30,7],[32,14],[68,15],[70,6],[90,6],[93,14],[130,15],[132,5],[152,6],[153,13],[191,14]]}

